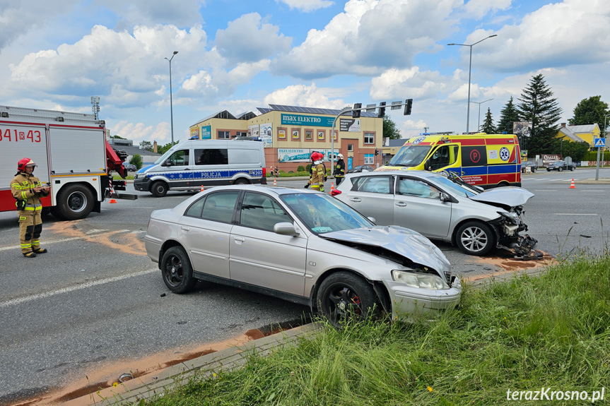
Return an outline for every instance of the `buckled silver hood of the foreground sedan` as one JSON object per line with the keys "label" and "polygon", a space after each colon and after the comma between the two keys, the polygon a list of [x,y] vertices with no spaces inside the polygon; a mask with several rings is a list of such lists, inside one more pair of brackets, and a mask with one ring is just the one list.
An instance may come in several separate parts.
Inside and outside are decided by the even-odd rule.
{"label": "buckled silver hood of the foreground sedan", "polygon": [[[451,265],[445,255],[429,239],[411,229],[391,226],[346,229],[327,232],[318,237],[331,241],[345,241],[349,246],[380,247],[408,260],[433,268],[443,280]],[[364,250],[370,252],[370,250]]]}

